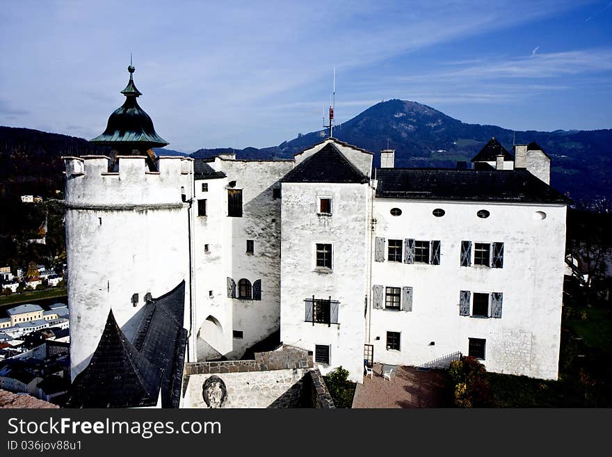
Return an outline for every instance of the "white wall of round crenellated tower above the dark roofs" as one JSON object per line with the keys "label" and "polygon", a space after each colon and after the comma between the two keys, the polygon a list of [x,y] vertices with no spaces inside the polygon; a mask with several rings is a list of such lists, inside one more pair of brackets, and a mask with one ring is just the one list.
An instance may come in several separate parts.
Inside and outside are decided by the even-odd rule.
{"label": "white wall of round crenellated tower above the dark roofs", "polygon": [[[144,157],[120,157],[118,173],[107,169],[105,157],[67,159],[72,379],[87,366],[111,307],[131,338],[147,292],[161,296],[186,280],[188,304],[188,203],[181,188],[188,200],[191,159],[160,158],[159,173],[150,173]],[[136,307],[132,294],[138,294]],[[187,307],[186,328],[189,319]]]}

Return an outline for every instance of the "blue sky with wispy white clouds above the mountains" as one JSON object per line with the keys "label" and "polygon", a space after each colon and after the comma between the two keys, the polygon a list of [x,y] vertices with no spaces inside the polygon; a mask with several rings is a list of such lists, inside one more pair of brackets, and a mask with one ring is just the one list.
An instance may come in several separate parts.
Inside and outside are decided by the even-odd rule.
{"label": "blue sky with wispy white clouds above the mountains", "polygon": [[168,147],[266,147],[392,98],[509,129],[612,128],[612,1],[15,1],[0,125],[92,138],[134,53]]}

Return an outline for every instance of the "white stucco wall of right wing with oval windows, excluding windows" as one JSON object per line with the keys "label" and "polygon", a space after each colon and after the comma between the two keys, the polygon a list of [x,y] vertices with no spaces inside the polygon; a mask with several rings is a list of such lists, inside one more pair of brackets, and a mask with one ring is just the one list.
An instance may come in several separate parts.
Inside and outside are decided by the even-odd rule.
{"label": "white stucco wall of right wing with oval windows, excluding windows", "polygon": [[[394,207],[401,216],[389,213]],[[446,214],[436,218],[435,208]],[[478,218],[479,209],[490,217]],[[375,236],[387,243],[385,262],[372,264],[372,284],[413,287],[411,312],[370,305],[374,360],[418,366],[456,351],[467,355],[473,337],[486,339],[490,371],[557,378],[565,206],[378,198],[374,218]],[[388,262],[388,239],[440,240],[440,265]],[[504,242],[504,267],[460,266],[462,240]],[[461,290],[502,292],[501,319],[460,316]],[[387,331],[401,332],[401,351],[387,350]]]}

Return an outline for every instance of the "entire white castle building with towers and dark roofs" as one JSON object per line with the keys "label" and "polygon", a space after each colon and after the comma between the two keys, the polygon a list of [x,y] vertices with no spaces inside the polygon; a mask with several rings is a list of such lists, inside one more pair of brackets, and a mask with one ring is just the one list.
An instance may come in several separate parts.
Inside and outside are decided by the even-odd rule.
{"label": "entire white castle building with towers and dark roofs", "polygon": [[557,378],[569,200],[536,143],[493,138],[463,170],[392,150],[373,169],[335,138],[282,161],[156,157],[129,72],[92,140],[112,157],[65,158],[70,405],[180,406],[184,363],[278,332],[358,383],[364,363],[458,353]]}

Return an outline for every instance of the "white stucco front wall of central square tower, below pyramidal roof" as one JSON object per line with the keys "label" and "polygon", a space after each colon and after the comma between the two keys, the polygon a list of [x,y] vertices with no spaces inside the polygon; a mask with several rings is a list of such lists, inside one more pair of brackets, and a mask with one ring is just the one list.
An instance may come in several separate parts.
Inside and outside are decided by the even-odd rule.
{"label": "white stucco front wall of central square tower, below pyramidal roof", "polygon": [[[342,365],[362,382],[364,299],[369,263],[368,184],[282,184],[281,339],[313,351],[330,346],[329,366]],[[332,198],[332,215],[317,214],[318,198]],[[332,244],[332,273],[316,266],[316,243]],[[339,323],[305,322],[305,298],[339,300]]]}

